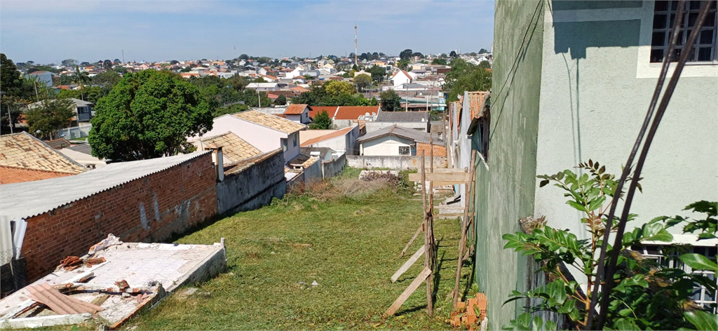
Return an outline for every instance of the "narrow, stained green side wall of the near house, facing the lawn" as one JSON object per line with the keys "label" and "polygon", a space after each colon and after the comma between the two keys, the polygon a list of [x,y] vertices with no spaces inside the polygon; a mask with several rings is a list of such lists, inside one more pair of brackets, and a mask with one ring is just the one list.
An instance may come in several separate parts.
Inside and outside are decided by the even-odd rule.
{"label": "narrow, stained green side wall of the near house, facing the lawn", "polygon": [[513,289],[526,287],[527,278],[526,259],[503,250],[501,236],[519,230],[518,219],[533,213],[545,5],[495,5],[489,159],[476,167],[475,195],[475,279],[488,297],[490,330],[500,330],[523,306],[502,307]]}

